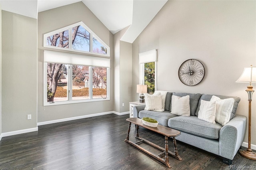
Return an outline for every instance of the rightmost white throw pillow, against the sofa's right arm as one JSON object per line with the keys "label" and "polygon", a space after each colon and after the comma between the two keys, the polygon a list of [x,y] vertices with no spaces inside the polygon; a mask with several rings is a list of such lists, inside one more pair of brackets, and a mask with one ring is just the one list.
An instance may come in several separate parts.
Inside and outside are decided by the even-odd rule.
{"label": "rightmost white throw pillow, against the sofa's right arm", "polygon": [[226,125],[229,122],[235,100],[233,98],[220,99],[213,95],[210,101],[216,101],[215,121],[222,126]]}

